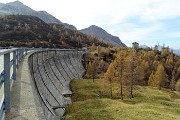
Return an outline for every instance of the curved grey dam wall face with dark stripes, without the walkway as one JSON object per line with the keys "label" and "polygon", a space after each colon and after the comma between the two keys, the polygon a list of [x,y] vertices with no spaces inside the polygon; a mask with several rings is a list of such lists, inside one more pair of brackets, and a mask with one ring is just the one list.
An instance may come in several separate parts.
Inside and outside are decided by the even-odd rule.
{"label": "curved grey dam wall face with dark stripes, without the walkway", "polygon": [[29,57],[41,107],[47,120],[65,119],[65,108],[71,104],[69,84],[85,72],[82,51],[39,51]]}

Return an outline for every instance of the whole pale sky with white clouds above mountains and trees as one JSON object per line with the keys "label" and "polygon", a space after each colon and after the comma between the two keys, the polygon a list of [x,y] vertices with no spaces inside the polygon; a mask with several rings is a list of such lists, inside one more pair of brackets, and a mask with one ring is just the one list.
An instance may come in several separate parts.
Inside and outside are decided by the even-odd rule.
{"label": "whole pale sky with white clouds above mountains and trees", "polygon": [[[0,0],[8,3],[14,0]],[[180,49],[180,0],[19,0],[78,30],[97,25],[123,43]]]}

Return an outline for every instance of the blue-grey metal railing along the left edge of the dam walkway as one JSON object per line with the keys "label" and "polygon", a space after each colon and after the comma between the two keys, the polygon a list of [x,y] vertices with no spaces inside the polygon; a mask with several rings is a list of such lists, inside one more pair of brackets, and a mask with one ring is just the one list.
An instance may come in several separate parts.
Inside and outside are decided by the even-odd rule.
{"label": "blue-grey metal railing along the left edge of the dam walkway", "polygon": [[4,61],[2,72],[0,73],[0,120],[2,119],[3,113],[9,112],[11,109],[10,92],[12,80],[16,80],[17,68],[19,67],[19,63],[23,56],[26,54],[26,48],[11,48],[0,50],[0,57],[2,57]]}

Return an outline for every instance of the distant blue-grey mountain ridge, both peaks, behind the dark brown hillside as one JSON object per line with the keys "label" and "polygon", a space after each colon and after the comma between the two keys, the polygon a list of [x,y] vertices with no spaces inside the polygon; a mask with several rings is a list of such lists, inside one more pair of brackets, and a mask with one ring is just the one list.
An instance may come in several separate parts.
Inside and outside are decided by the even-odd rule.
{"label": "distant blue-grey mountain ridge, both peaks, behind the dark brown hillside", "polygon": [[[48,24],[59,24],[61,28],[71,29],[75,30],[77,32],[81,32],[86,35],[90,35],[92,37],[96,37],[101,42],[104,42],[105,44],[113,45],[113,46],[123,46],[126,47],[124,43],[121,42],[119,37],[113,36],[103,30],[102,28],[92,25],[91,33],[98,33],[98,34],[89,34],[89,32],[84,32],[83,30],[77,30],[75,26],[69,25],[68,23],[62,23],[60,20],[52,16],[46,11],[35,11],[31,9],[30,7],[24,5],[20,1],[14,1],[10,3],[0,3],[0,16],[3,17],[5,15],[28,15],[28,16],[35,16],[43,20],[44,22]],[[94,32],[93,32],[94,31]]]}

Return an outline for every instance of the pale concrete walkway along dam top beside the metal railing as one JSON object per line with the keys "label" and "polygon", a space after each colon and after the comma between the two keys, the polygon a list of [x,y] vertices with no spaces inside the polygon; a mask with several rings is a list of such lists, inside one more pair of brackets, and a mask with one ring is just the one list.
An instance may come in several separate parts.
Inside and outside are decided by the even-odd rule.
{"label": "pale concrete walkway along dam top beside the metal railing", "polygon": [[17,80],[11,89],[11,111],[4,120],[45,120],[35,85],[31,79],[26,55],[17,70]]}

